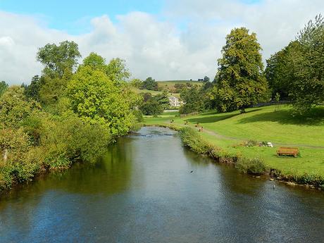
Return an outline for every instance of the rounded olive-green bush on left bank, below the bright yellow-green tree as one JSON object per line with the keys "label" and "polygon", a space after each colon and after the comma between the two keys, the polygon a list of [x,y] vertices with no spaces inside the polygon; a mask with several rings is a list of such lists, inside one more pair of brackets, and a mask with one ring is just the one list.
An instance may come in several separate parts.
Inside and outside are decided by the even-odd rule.
{"label": "rounded olive-green bush on left bank, below the bright yellow-green tree", "polygon": [[66,168],[73,161],[94,162],[111,142],[108,128],[84,122],[76,116],[47,118],[42,126],[45,163],[50,168]]}

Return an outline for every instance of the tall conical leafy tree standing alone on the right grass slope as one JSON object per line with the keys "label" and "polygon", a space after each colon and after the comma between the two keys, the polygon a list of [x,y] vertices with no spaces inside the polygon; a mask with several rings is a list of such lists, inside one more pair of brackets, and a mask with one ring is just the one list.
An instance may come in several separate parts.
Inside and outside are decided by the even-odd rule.
{"label": "tall conical leafy tree standing alone on the right grass slope", "polygon": [[265,99],[267,83],[263,76],[261,46],[256,34],[245,27],[233,29],[226,36],[223,57],[218,59],[218,82],[212,98],[221,111],[245,108]]}

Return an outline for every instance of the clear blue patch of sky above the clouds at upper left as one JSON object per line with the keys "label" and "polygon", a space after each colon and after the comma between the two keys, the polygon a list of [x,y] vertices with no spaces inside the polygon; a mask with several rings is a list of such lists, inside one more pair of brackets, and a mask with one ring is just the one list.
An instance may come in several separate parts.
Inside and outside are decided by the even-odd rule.
{"label": "clear blue patch of sky above the clouds at upper left", "polygon": [[0,9],[11,13],[35,15],[45,21],[48,27],[66,30],[70,34],[88,32],[89,20],[101,15],[109,15],[116,22],[116,15],[132,11],[158,14],[163,8],[161,0],[0,0]]}

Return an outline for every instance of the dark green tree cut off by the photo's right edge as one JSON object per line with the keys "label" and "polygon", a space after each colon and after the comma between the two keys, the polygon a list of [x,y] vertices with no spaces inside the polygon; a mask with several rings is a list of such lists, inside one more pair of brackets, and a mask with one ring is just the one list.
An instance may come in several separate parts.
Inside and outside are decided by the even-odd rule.
{"label": "dark green tree cut off by the photo's right edge", "polygon": [[297,37],[299,51],[292,64],[294,80],[290,96],[299,113],[305,113],[324,101],[324,18],[316,16]]}

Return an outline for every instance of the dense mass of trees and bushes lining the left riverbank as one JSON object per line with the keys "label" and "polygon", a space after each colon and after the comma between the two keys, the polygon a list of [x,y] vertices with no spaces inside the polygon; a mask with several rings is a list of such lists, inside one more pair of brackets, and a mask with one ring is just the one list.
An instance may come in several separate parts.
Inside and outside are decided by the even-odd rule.
{"label": "dense mass of trees and bushes lining the left riverbank", "polygon": [[0,82],[0,190],[75,161],[94,163],[142,119],[125,61],[81,57],[75,42],[46,44],[30,85]]}

